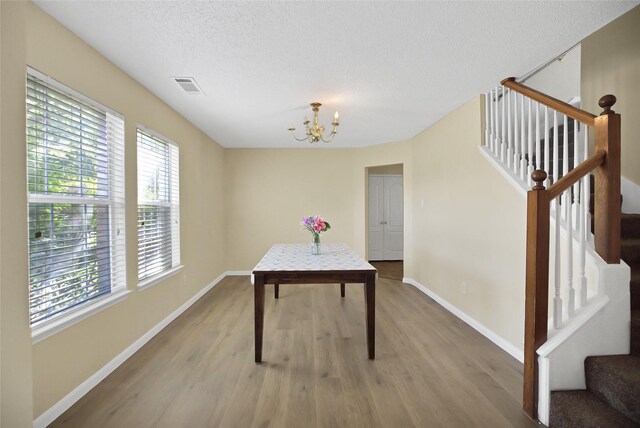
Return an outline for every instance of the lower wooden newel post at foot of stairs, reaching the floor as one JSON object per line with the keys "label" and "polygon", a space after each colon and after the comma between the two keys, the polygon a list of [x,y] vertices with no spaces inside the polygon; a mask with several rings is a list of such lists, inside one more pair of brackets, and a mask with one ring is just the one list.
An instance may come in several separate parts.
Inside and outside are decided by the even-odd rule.
{"label": "lower wooden newel post at foot of stairs, reaching the floor", "polygon": [[536,351],[547,340],[549,299],[549,191],[547,173],[531,174],[536,183],[527,193],[527,261],[524,321],[524,386],[522,408],[538,418],[538,360]]}

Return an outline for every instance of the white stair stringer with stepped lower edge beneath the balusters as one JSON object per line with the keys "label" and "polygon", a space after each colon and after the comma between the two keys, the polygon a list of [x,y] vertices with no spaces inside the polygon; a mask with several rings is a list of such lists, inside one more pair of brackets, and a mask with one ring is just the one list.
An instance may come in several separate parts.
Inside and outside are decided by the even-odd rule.
{"label": "white stair stringer with stepped lower edge beneath the balusters", "polygon": [[586,388],[586,357],[629,353],[629,266],[594,258],[598,296],[537,351],[538,419],[545,425],[549,424],[551,391]]}

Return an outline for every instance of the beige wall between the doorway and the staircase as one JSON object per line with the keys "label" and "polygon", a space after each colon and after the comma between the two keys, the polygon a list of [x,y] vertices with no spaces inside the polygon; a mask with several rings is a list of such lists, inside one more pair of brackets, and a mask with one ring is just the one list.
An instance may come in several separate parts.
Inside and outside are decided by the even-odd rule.
{"label": "beige wall between the doorway and the staircase", "polygon": [[405,275],[522,349],[526,202],[478,150],[483,108],[474,98],[413,139]]}

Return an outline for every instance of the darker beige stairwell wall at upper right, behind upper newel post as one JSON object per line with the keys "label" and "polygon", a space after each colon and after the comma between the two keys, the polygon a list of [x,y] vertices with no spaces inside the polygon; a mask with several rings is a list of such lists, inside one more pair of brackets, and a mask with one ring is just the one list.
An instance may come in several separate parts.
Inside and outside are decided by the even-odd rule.
{"label": "darker beige stairwell wall at upper right, behind upper newel post", "polygon": [[640,6],[582,42],[582,108],[602,111],[598,100],[614,94],[622,116],[622,175],[640,185]]}

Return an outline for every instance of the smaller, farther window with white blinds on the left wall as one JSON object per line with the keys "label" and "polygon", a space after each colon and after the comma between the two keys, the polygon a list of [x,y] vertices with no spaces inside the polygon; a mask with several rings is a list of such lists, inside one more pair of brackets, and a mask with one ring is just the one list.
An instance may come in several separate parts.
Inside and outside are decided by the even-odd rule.
{"label": "smaller, farther window with white blinds on the left wall", "polygon": [[180,266],[178,145],[138,128],[138,281]]}

